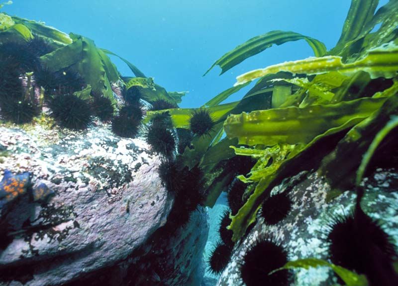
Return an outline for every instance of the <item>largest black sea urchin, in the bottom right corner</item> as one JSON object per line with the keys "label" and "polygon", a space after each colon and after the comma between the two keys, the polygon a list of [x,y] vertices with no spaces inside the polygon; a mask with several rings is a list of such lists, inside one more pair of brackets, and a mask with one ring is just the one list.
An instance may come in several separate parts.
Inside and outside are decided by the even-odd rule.
{"label": "largest black sea urchin, in the bottom right corner", "polygon": [[330,259],[339,266],[365,274],[371,286],[398,285],[391,238],[379,224],[356,207],[354,214],[337,217],[330,225]]}

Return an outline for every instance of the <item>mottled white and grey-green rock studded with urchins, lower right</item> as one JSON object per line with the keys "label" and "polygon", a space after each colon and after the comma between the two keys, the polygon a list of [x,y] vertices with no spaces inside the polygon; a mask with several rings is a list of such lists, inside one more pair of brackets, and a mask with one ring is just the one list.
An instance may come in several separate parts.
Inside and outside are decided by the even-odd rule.
{"label": "mottled white and grey-green rock studded with urchins, lower right", "polygon": [[[361,205],[365,213],[382,222],[383,230],[390,235],[397,246],[398,242],[398,173],[395,169],[377,169],[363,181],[365,196]],[[231,260],[217,286],[244,286],[240,278],[240,264],[243,257],[257,239],[274,237],[288,251],[290,261],[304,258],[328,260],[327,235],[328,226],[337,216],[349,214],[355,205],[356,193],[345,191],[330,202],[326,194],[330,186],[314,173],[301,173],[280,186],[273,193],[289,191],[293,201],[289,215],[279,223],[271,226],[264,224],[262,217],[246,233],[240,243],[236,244]],[[293,271],[295,286],[328,286],[337,283],[329,268],[319,267],[309,270]]]}

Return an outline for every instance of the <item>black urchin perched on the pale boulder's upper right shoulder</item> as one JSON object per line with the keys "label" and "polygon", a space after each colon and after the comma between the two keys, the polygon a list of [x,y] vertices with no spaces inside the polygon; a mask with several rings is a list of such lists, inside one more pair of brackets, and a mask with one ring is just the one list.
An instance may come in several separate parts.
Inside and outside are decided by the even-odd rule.
{"label": "black urchin perched on the pale boulder's upper right shoulder", "polygon": [[146,142],[152,149],[165,156],[171,156],[176,149],[176,138],[170,129],[150,124],[146,130]]}

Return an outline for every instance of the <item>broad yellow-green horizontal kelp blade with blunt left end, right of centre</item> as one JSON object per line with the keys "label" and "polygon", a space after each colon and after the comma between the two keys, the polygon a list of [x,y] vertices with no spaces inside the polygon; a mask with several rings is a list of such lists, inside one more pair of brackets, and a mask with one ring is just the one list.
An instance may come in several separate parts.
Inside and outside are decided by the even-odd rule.
{"label": "broad yellow-green horizontal kelp blade with blunt left end, right of centre", "polygon": [[359,98],[337,104],[286,107],[229,115],[224,122],[228,138],[239,144],[309,143],[315,136],[351,119],[353,124],[380,108],[386,98]]}

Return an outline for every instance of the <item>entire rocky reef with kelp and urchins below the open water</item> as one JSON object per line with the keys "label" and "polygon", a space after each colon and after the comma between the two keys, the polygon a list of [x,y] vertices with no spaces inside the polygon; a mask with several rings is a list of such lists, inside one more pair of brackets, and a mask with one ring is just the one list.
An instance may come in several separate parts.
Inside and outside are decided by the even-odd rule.
{"label": "entire rocky reef with kelp and urchins below the open water", "polygon": [[89,38],[0,13],[0,284],[397,285],[398,1],[377,6],[352,0],[329,51],[249,39],[207,72],[297,40],[314,57],[197,108]]}

